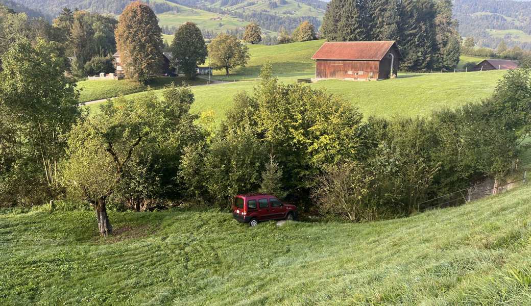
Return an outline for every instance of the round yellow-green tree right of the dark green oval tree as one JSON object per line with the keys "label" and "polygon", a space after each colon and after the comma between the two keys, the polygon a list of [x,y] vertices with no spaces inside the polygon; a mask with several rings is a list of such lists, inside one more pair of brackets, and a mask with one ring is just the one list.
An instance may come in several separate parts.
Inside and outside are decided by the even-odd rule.
{"label": "round yellow-green tree right of the dark green oval tree", "polygon": [[249,48],[228,34],[219,34],[209,43],[208,56],[210,65],[217,70],[225,69],[226,75],[229,75],[229,69],[245,66],[250,58]]}

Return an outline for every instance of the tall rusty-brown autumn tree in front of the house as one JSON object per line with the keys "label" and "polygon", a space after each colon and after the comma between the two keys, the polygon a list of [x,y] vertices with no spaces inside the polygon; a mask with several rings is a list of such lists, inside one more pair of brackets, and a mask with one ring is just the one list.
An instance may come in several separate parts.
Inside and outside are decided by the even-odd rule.
{"label": "tall rusty-brown autumn tree in front of the house", "polygon": [[138,1],[127,5],[115,36],[126,77],[147,82],[161,72],[162,30],[148,5]]}

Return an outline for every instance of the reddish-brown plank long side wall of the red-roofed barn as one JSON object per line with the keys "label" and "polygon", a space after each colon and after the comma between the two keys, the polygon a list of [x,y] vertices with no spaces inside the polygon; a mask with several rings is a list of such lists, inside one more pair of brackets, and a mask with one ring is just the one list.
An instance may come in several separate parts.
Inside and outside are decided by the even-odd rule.
{"label": "reddish-brown plank long side wall of the red-roofed barn", "polygon": [[[317,60],[317,78],[378,78],[380,62],[366,60]],[[371,76],[372,73],[372,76]]]}

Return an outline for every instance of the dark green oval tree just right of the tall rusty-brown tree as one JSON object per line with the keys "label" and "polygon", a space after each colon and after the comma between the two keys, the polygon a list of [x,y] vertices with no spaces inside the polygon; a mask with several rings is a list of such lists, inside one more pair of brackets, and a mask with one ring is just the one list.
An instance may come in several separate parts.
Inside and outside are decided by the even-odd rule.
{"label": "dark green oval tree just right of the tall rusty-brown tree", "polygon": [[170,50],[176,67],[187,78],[195,77],[197,66],[204,64],[208,55],[201,30],[192,22],[186,22],[175,32]]}

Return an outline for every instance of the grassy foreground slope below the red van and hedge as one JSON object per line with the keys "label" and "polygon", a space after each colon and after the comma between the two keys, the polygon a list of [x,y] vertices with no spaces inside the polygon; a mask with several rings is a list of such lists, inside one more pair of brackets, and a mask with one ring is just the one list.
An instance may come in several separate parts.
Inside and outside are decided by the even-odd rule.
{"label": "grassy foreground slope below the red van and hedge", "polygon": [[526,305],[531,188],[397,220],[256,228],[228,213],[0,215],[5,305]]}

